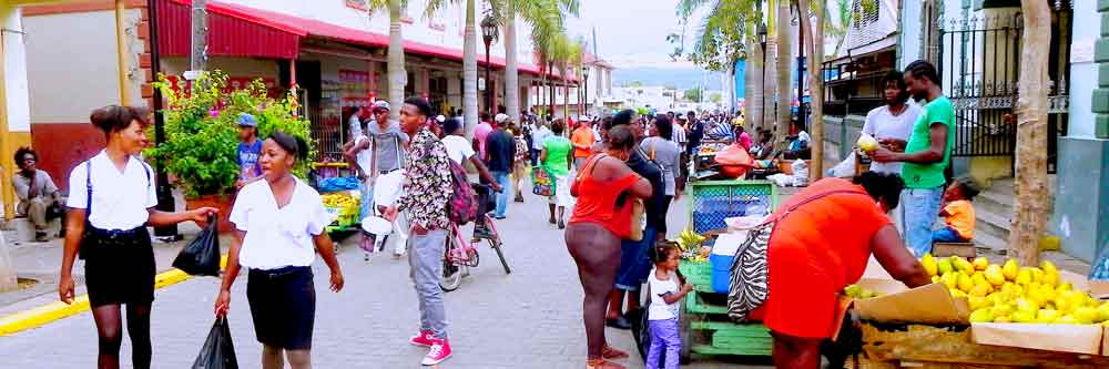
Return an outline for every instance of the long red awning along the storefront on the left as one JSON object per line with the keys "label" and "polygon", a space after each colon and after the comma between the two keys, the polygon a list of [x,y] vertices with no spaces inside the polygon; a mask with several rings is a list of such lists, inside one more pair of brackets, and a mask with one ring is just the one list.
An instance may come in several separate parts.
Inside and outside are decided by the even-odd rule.
{"label": "long red awning along the storefront on the left", "polygon": [[[159,47],[166,55],[189,55],[191,0],[159,0]],[[332,24],[285,13],[235,3],[208,1],[208,53],[228,57],[296,59],[303,37],[317,37],[368,47],[387,48],[389,35]],[[404,42],[405,52],[462,60],[462,51],[416,41]],[[478,64],[485,65],[484,55]],[[490,58],[489,64],[505,66],[505,58]],[[521,72],[542,74],[541,68],[519,63]],[[553,71],[553,74],[558,74]],[[571,81],[574,80],[571,78]]]}

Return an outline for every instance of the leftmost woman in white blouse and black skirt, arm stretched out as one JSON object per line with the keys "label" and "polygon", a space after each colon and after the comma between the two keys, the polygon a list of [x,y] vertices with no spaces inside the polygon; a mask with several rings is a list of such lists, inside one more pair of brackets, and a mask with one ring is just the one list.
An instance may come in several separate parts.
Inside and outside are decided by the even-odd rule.
{"label": "leftmost woman in white blouse and black skirt, arm stretched out", "polygon": [[92,112],[92,124],[104,132],[108,145],[70,173],[65,249],[58,296],[73,303],[73,260],[84,262],[89,304],[96,321],[98,368],[120,367],[123,322],[135,368],[150,368],[150,308],[154,301],[154,250],[146,226],[193,221],[203,223],[216,209],[165,213],[154,209],[154,176],[136,157],[146,147],[150,113],[142,107],[110,105]]}

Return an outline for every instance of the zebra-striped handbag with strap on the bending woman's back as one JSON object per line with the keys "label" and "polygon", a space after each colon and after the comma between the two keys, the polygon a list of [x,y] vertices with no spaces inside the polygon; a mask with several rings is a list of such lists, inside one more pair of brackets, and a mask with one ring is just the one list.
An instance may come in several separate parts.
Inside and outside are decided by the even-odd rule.
{"label": "zebra-striped handbag with strap on the bending woman's back", "polygon": [[774,233],[774,225],[802,205],[834,194],[868,196],[845,189],[815,194],[747,230],[747,238],[735,250],[735,257],[732,259],[730,269],[731,283],[728,287],[729,318],[742,321],[747,318],[751,311],[754,311],[763,303],[766,303],[766,296],[770,295],[770,264],[766,260],[766,255],[770,248],[770,237]]}

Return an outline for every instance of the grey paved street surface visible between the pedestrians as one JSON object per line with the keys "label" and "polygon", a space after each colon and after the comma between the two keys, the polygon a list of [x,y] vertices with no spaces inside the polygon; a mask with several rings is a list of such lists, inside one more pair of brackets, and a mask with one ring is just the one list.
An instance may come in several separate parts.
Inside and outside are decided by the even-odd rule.
{"label": "grey paved street surface visible between the pedestrians", "polygon": [[[582,368],[586,359],[581,324],[581,287],[562,233],[547,224],[545,199],[527,195],[512,203],[509,218],[498,221],[512,274],[506,275],[495,253],[482,246],[481,265],[462,286],[446,295],[455,357],[441,368]],[[673,206],[671,224],[685,223],[685,206]],[[680,229],[680,226],[672,226]],[[468,232],[467,232],[468,233]],[[409,346],[417,327],[415,291],[408,265],[387,255],[362,260],[355,237],[343,244],[339,260],[346,288],[327,290],[327,268],[317,260],[317,309],[313,361],[316,368],[418,368],[425,349]],[[241,278],[232,291],[231,331],[238,362],[257,368],[261,346],[254,337]],[[155,368],[186,368],[213,322],[212,303],[218,280],[194,278],[156,293],[152,319]],[[43,298],[52,298],[45,296]],[[628,331],[612,330],[613,346],[633,351]],[[130,366],[130,344],[122,360]],[[96,337],[88,312],[38,329],[0,337],[4,368],[88,368],[94,365]],[[765,362],[763,362],[765,363]],[[628,361],[641,368],[638,358]],[[765,368],[754,366],[757,368]],[[699,358],[686,368],[751,368]]]}

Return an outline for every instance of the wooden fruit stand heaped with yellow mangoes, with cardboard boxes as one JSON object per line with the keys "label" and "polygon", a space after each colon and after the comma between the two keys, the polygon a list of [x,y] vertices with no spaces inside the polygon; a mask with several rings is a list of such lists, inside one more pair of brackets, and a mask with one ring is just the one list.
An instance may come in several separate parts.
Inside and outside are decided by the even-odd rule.
{"label": "wooden fruit stand heaped with yellow mangoes, with cardboard boxes", "polygon": [[1050,262],[925,254],[922,264],[932,285],[872,275],[845,289],[854,324],[840,337],[857,340],[847,368],[1109,368],[1109,303],[1083,277]]}

